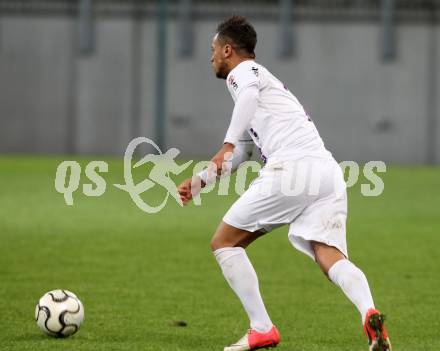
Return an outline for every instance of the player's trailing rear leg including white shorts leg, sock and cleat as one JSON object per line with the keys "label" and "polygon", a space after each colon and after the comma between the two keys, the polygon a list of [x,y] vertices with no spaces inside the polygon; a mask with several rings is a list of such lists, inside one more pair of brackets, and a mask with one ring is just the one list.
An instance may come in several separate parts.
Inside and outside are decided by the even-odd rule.
{"label": "player's trailing rear leg including white shorts leg, sock and cleat", "polygon": [[319,197],[291,223],[289,239],[298,250],[314,259],[357,307],[370,350],[390,350],[383,316],[374,308],[367,278],[348,260],[347,196],[342,171],[333,161],[323,164],[320,170]]}

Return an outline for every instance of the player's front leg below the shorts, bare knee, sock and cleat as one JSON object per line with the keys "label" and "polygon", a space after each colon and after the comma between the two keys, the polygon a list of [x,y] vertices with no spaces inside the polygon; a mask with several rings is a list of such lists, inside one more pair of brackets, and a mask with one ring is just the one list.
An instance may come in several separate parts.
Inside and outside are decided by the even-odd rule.
{"label": "player's front leg below the shorts, bare knee, sock and cleat", "polygon": [[253,350],[276,345],[279,334],[264,306],[257,274],[245,248],[264,235],[264,231],[250,232],[225,222],[218,226],[211,248],[229,286],[237,294],[250,320],[250,331],[226,351]]}

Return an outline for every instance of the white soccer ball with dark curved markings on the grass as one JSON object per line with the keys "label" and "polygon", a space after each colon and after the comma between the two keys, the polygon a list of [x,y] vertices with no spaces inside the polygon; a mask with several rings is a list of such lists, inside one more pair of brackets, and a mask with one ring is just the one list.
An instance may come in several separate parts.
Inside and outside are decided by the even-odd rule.
{"label": "white soccer ball with dark curved markings on the grass", "polygon": [[67,337],[75,334],[84,321],[84,307],[74,293],[52,290],[38,301],[35,320],[45,334]]}

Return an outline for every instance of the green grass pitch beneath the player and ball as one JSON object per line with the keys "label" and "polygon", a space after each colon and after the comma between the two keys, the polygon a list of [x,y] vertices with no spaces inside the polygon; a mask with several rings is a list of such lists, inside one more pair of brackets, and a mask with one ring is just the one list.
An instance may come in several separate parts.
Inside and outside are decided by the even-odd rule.
{"label": "green grass pitch beneath the player and ball", "polygon": [[[242,336],[247,318],[209,249],[236,196],[211,193],[185,208],[170,200],[145,214],[111,185],[123,182],[122,162],[109,160],[106,193],[78,191],[68,207],[54,189],[61,160],[0,158],[0,350],[207,351]],[[440,168],[391,166],[382,176],[380,197],[349,190],[350,257],[388,316],[394,350],[440,350]],[[248,250],[282,334],[278,350],[367,350],[358,312],[286,234]],[[40,296],[55,288],[85,306],[71,338],[48,338],[33,320]]]}

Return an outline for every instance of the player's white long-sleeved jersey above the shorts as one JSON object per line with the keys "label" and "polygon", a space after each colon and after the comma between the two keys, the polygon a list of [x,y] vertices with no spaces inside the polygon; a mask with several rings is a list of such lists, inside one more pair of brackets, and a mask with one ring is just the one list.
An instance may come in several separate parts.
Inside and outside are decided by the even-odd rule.
{"label": "player's white long-sleeved jersey above the shorts", "polygon": [[[253,116],[245,123],[265,163],[297,160],[306,156],[331,158],[298,99],[265,67],[253,60],[241,62],[229,72],[226,85],[234,102],[247,88],[258,88]],[[231,123],[225,142],[236,144],[234,128]]]}

